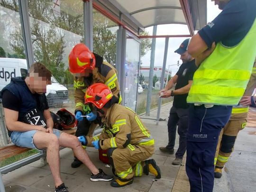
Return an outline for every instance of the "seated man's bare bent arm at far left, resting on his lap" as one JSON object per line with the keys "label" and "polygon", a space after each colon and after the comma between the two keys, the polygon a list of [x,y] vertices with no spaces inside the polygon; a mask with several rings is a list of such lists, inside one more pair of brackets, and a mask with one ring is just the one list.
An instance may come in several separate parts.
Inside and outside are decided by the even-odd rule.
{"label": "seated man's bare bent arm at far left, resting on his lap", "polygon": [[26,132],[31,130],[38,130],[38,131],[46,132],[46,129],[40,125],[29,125],[29,124],[18,121],[18,111],[14,111],[7,108],[3,108],[3,109],[4,109],[4,116],[5,116],[5,123],[9,131]]}

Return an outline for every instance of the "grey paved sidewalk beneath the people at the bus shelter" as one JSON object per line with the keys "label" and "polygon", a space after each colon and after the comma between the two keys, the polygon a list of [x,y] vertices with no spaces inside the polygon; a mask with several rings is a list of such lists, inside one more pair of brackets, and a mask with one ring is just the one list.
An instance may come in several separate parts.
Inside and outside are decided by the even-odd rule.
{"label": "grey paved sidewalk beneath the people at the bus shelter", "polygon": [[[155,153],[152,158],[161,169],[162,178],[157,181],[152,175],[136,177],[133,184],[113,188],[110,182],[91,182],[90,171],[82,165],[72,168],[73,153],[70,149],[60,151],[61,177],[70,192],[189,192],[189,182],[185,173],[185,158],[182,166],[172,165],[178,147],[176,137],[174,154],[165,154],[159,147],[168,142],[167,120],[172,103],[162,106],[160,121],[142,119],[155,138]],[[156,117],[157,110],[150,112],[150,117]],[[145,117],[145,116],[144,116]],[[256,191],[256,129],[247,127],[238,134],[235,150],[232,153],[223,176],[215,180],[214,192],[255,192]],[[98,150],[87,147],[87,152],[96,167],[102,168],[107,174],[112,174],[111,167],[105,167],[98,156]],[[54,182],[49,166],[42,166],[36,161],[3,175],[6,192],[53,192]],[[174,184],[175,182],[175,184]]]}

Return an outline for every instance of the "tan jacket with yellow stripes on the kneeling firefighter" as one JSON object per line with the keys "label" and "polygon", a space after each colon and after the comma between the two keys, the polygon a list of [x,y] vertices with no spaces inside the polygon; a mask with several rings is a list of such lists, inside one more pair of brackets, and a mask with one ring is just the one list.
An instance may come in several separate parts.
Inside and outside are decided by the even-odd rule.
{"label": "tan jacket with yellow stripes on the kneeling firefighter", "polygon": [[105,118],[102,118],[102,133],[99,136],[86,137],[87,146],[92,146],[91,142],[99,141],[102,150],[109,148],[130,148],[132,145],[152,146],[154,139],[143,125],[137,114],[122,105],[114,104],[107,110]]}

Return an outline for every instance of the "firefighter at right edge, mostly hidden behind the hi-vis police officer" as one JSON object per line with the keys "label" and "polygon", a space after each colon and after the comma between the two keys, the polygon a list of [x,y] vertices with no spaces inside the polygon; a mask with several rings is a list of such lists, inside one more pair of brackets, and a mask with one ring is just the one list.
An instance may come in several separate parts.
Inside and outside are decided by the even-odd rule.
{"label": "firefighter at right edge, mostly hidden behind the hi-vis police officer", "polygon": [[251,102],[251,95],[256,86],[256,60],[254,62],[254,67],[252,71],[251,78],[249,83],[247,84],[247,89],[244,93],[244,96],[240,100],[238,106],[234,106],[232,108],[231,117],[229,122],[225,125],[219,135],[219,142],[217,146],[217,150],[215,153],[215,169],[214,169],[214,177],[220,178],[222,176],[222,168],[229,160],[229,156],[231,155],[237,135],[240,130],[245,128],[247,123],[247,115],[249,111],[249,105]]}

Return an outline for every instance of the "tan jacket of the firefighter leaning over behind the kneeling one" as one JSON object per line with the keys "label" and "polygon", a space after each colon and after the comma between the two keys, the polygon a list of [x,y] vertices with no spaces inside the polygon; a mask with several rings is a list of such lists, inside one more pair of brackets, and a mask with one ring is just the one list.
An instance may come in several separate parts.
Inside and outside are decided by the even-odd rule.
{"label": "tan jacket of the firefighter leaning over behind the kneeling one", "polygon": [[91,109],[88,105],[84,105],[84,94],[87,88],[93,83],[106,84],[113,95],[121,102],[119,94],[120,87],[117,78],[117,70],[108,62],[103,61],[103,58],[93,53],[96,60],[95,68],[92,70],[92,75],[89,77],[74,77],[74,98],[75,98],[75,113],[77,110],[90,113]]}

